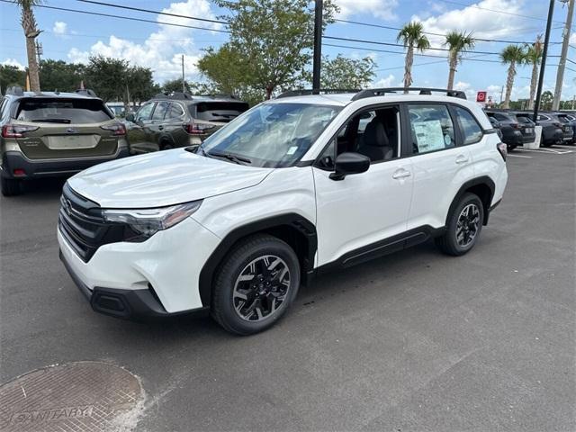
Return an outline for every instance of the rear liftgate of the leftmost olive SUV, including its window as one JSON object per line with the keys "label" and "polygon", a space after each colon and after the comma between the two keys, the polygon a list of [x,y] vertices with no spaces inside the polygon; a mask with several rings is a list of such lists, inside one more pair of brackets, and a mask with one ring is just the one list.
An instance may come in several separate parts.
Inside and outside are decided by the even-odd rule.
{"label": "rear liftgate of the leftmost olive SUV, including its window", "polygon": [[65,97],[23,98],[13,121],[31,128],[16,139],[29,159],[113,155],[118,138],[104,128],[116,122],[100,99]]}

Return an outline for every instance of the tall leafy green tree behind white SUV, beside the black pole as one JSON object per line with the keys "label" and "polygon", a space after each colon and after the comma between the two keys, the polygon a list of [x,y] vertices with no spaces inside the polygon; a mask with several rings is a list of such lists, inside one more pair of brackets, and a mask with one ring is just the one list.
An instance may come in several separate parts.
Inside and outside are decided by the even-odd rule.
{"label": "tall leafy green tree behind white SUV, beside the black pole", "polygon": [[[230,40],[208,51],[202,72],[222,88],[232,85],[248,92],[262,91],[269,99],[277,88],[296,85],[311,60],[314,10],[308,0],[212,0],[229,10]],[[333,23],[338,11],[332,0],[324,2],[324,23]],[[220,50],[223,51],[220,53]],[[218,54],[218,56],[217,56]],[[227,73],[218,70],[223,59],[233,63]],[[212,78],[213,76],[213,78]]]}

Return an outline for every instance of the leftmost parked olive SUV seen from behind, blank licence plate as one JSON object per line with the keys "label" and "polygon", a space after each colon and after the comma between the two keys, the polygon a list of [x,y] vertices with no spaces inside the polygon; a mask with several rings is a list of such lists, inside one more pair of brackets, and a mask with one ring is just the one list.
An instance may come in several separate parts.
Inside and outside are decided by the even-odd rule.
{"label": "leftmost parked olive SUV seen from behind, blank licence plate", "polygon": [[75,174],[129,156],[124,125],[90,90],[23,92],[11,87],[0,103],[2,193],[22,192],[34,177]]}

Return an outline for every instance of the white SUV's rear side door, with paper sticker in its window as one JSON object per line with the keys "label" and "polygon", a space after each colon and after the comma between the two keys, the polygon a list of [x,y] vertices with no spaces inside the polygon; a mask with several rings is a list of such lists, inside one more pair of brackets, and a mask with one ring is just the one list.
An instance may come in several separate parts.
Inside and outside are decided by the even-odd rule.
{"label": "white SUV's rear side door, with paper sticker in its window", "polygon": [[455,119],[445,103],[405,105],[410,119],[410,157],[414,193],[408,229],[441,228],[450,203],[465,181],[473,178],[468,146],[457,146]]}

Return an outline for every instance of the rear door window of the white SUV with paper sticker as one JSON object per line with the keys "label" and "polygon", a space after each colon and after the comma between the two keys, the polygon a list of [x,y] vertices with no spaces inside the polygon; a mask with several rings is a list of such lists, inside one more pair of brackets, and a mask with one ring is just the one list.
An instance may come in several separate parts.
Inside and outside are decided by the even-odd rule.
{"label": "rear door window of the white SUV with paper sticker", "polygon": [[456,145],[454,123],[446,105],[408,105],[412,154],[454,148]]}

